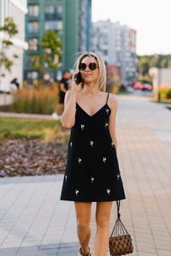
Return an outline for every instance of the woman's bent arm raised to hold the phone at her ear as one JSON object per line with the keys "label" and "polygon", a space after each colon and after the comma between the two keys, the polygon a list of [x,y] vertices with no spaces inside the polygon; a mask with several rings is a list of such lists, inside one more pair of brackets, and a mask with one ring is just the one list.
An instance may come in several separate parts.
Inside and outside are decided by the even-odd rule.
{"label": "woman's bent arm raised to hold the phone at her ear", "polygon": [[76,85],[74,81],[74,75],[72,78],[72,88],[65,93],[64,110],[61,118],[63,128],[72,128],[75,123],[76,100],[78,92],[81,88],[81,83],[79,85]]}

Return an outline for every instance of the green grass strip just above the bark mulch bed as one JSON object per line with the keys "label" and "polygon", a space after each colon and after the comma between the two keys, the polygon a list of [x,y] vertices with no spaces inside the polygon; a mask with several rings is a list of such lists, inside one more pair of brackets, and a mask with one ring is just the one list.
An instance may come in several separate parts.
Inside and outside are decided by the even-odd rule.
{"label": "green grass strip just above the bark mulch bed", "polygon": [[0,116],[0,143],[9,138],[39,138],[45,142],[58,138],[67,145],[68,133],[62,132],[60,120]]}

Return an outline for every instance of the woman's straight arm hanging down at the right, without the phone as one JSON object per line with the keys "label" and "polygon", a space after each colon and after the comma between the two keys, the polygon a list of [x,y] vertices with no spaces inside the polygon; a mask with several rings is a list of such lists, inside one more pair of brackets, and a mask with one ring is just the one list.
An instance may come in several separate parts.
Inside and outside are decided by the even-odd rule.
{"label": "woman's straight arm hanging down at the right, without the phone", "polygon": [[115,116],[118,104],[116,96],[112,93],[110,93],[109,102],[111,105],[111,114],[109,116],[109,133],[111,135],[112,141],[115,144],[115,150],[117,151],[117,139],[115,135]]}

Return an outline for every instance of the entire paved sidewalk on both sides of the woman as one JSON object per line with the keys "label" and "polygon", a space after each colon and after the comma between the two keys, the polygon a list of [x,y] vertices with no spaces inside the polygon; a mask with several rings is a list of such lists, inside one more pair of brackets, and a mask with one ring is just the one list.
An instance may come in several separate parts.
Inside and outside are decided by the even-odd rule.
{"label": "entire paved sidewalk on both sides of the woman", "polygon": [[[118,159],[127,196],[121,201],[121,220],[133,237],[130,255],[170,256],[171,111],[148,100],[118,96]],[[0,256],[77,255],[74,203],[59,200],[62,177],[0,179]],[[92,256],[95,210],[93,203]],[[114,202],[110,231],[115,210]]]}

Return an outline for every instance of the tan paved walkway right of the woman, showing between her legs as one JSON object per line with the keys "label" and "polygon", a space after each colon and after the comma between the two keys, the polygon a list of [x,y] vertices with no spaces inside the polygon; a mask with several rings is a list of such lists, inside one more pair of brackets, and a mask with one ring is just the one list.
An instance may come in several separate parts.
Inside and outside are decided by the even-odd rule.
{"label": "tan paved walkway right of the woman, showing between her legs", "polygon": [[[171,111],[149,100],[118,97],[118,158],[127,196],[121,202],[121,220],[133,237],[134,251],[130,255],[170,256]],[[91,252],[96,232],[95,206]],[[114,202],[110,234],[115,218]]]}

